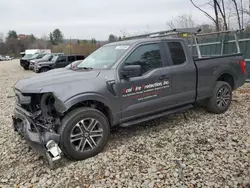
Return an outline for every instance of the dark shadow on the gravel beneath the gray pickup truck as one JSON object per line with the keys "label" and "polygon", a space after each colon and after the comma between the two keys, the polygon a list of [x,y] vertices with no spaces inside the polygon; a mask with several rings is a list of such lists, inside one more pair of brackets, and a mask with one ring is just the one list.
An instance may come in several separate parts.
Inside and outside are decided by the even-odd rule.
{"label": "dark shadow on the gravel beneath the gray pickup truck", "polygon": [[[108,140],[106,147],[101,153],[108,152],[111,149],[117,149],[121,146],[121,144],[117,144],[117,143],[126,143],[129,139],[133,139],[136,136],[145,135],[145,131],[148,133],[154,132],[157,134],[165,129],[169,129],[169,130],[173,129],[176,126],[179,126],[177,125],[178,123],[174,124],[173,121],[176,121],[176,120],[181,121],[181,119],[185,121],[189,121],[193,117],[198,118],[199,115],[197,115],[197,113],[199,114],[208,113],[204,110],[204,105],[202,103],[196,104],[193,109],[186,110],[184,112],[175,113],[175,114],[170,114],[165,117],[150,120],[150,121],[140,123],[137,125],[133,125],[130,127],[116,126],[111,129],[110,139]],[[57,168],[67,167],[74,162],[75,161],[70,161],[70,160],[67,160],[66,158],[63,158],[59,160],[58,162],[56,162],[54,170],[56,170]],[[47,159],[44,157],[43,157],[43,163],[48,164]],[[41,164],[40,166],[43,166],[43,165],[44,164]]]}

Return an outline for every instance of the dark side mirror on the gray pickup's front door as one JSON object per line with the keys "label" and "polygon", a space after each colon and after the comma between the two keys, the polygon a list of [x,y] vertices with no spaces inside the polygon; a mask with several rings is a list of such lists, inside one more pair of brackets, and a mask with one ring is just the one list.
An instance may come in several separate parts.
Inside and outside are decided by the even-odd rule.
{"label": "dark side mirror on the gray pickup's front door", "polygon": [[142,75],[141,65],[126,65],[121,70],[121,76],[123,78],[131,78]]}

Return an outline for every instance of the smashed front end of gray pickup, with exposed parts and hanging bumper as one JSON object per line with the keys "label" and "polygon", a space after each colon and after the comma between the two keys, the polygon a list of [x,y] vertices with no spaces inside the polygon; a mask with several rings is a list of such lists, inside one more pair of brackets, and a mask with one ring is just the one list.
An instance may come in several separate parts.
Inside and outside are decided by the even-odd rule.
{"label": "smashed front end of gray pickup, with exposed parts and hanging bumper", "polygon": [[51,168],[59,160],[62,151],[59,148],[60,135],[57,130],[61,125],[55,108],[58,99],[52,93],[23,94],[16,93],[16,104],[13,119],[15,131],[25,137],[29,145],[47,157]]}

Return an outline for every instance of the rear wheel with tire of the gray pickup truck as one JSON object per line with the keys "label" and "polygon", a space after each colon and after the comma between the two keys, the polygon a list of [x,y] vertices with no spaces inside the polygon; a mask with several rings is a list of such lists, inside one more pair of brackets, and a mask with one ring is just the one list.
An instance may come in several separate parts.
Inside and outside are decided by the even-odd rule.
{"label": "rear wheel with tire of the gray pickup truck", "polygon": [[232,88],[227,82],[217,81],[213,95],[208,99],[207,110],[215,114],[227,111],[232,101]]}

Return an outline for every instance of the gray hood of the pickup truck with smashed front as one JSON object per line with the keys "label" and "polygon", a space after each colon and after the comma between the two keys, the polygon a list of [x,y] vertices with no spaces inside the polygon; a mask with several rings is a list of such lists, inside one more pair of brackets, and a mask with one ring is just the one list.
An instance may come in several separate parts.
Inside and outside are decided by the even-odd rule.
{"label": "gray hood of the pickup truck with smashed front", "polygon": [[37,74],[30,78],[19,80],[15,84],[15,89],[22,93],[39,93],[42,89],[51,85],[61,85],[80,80],[91,80],[97,77],[100,70],[74,71],[70,69],[55,69],[45,73]]}

